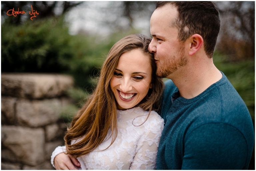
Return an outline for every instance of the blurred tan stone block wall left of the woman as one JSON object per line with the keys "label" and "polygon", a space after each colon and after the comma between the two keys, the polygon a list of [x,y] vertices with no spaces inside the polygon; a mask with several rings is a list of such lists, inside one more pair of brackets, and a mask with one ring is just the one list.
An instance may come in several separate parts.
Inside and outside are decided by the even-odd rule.
{"label": "blurred tan stone block wall left of the woman", "polygon": [[63,144],[60,118],[73,78],[53,74],[1,74],[1,169],[53,170],[52,151]]}

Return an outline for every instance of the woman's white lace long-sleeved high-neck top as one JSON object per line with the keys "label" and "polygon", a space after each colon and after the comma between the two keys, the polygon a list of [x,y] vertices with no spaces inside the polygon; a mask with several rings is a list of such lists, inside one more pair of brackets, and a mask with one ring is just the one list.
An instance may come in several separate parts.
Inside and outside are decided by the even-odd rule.
{"label": "woman's white lace long-sleeved high-neck top", "polygon": [[[90,153],[78,157],[77,159],[81,164],[81,169],[156,169],[157,149],[164,128],[164,120],[155,111],[151,111],[149,118],[144,124],[134,126],[143,123],[147,115],[148,111],[143,110],[141,107],[117,110],[118,134],[114,143],[106,149],[111,143],[111,138],[109,138]],[[75,143],[75,141],[72,143]],[[65,151],[65,146],[59,146],[53,151],[51,156],[53,167],[54,157]]]}

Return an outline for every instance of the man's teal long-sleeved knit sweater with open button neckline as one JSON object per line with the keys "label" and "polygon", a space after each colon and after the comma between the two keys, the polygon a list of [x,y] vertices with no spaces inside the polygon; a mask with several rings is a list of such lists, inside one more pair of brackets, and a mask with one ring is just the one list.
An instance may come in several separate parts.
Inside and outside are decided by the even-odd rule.
{"label": "man's teal long-sleeved knit sweater with open button neckline", "polygon": [[254,145],[249,111],[223,77],[198,96],[186,99],[165,82],[161,116],[165,126],[157,169],[247,169]]}

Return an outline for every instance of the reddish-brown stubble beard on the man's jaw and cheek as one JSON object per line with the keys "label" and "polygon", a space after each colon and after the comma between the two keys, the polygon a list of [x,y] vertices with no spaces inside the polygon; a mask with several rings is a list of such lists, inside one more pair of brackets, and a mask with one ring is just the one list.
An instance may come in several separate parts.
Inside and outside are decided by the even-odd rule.
{"label": "reddish-brown stubble beard on the man's jaw and cheek", "polygon": [[[167,78],[169,75],[173,74],[178,68],[187,65],[187,57],[184,56],[184,46],[181,46],[175,55],[172,55],[164,61],[162,66],[157,65],[156,75],[161,78]],[[160,63],[159,63],[160,64]]]}

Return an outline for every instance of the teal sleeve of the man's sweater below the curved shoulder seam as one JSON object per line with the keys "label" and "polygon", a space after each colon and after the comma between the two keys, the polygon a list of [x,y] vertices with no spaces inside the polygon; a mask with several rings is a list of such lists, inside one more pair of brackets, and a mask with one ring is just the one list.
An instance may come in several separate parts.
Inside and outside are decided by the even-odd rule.
{"label": "teal sleeve of the man's sweater below the curved shoulder seam", "polygon": [[185,135],[184,170],[246,169],[248,146],[243,134],[225,123],[207,123]]}

